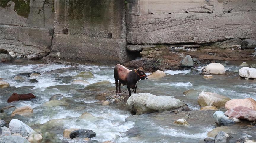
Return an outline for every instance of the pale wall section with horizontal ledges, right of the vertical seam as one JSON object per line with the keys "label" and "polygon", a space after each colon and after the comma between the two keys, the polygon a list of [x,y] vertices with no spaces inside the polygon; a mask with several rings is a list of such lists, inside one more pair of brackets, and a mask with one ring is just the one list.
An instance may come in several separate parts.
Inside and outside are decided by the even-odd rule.
{"label": "pale wall section with horizontal ledges, right of the vertical seam", "polygon": [[129,44],[203,44],[256,37],[256,1],[133,0],[127,6]]}

